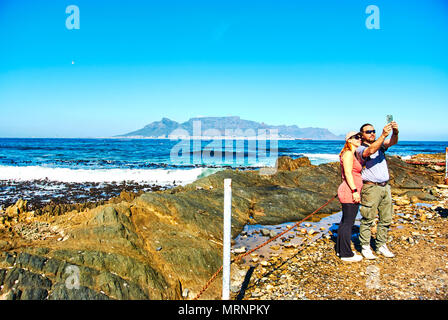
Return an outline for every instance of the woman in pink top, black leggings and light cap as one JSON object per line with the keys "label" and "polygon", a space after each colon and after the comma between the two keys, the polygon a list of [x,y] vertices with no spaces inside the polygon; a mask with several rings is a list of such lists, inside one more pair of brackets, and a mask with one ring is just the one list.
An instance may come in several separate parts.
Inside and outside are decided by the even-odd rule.
{"label": "woman in pink top, black leggings and light cap", "polygon": [[351,249],[352,228],[358,214],[361,201],[362,166],[355,157],[355,150],[361,145],[361,134],[350,131],[345,136],[345,145],[339,154],[342,183],[338,188],[338,197],[342,205],[342,219],[339,223],[336,239],[336,254],[344,261],[360,261],[362,256]]}

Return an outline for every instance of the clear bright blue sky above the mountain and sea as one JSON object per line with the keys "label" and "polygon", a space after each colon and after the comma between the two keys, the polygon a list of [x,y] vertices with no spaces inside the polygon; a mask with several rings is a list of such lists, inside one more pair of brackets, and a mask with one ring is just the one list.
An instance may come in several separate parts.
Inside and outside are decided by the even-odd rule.
{"label": "clear bright blue sky above the mountain and sea", "polygon": [[447,52],[444,0],[0,0],[0,137],[227,115],[343,134],[393,114],[401,139],[447,141]]}

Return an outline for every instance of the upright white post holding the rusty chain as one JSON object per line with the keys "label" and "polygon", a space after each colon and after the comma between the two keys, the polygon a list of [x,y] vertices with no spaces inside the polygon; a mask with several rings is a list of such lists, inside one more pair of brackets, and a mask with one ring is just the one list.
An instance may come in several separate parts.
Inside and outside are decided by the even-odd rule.
{"label": "upright white post holding the rusty chain", "polygon": [[230,298],[230,240],[232,229],[232,179],[224,179],[224,238],[222,263],[222,300]]}

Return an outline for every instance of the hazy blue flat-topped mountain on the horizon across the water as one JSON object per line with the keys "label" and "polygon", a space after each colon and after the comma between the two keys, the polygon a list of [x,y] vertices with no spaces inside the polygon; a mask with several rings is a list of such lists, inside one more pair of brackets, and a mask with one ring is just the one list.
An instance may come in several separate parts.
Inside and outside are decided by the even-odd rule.
{"label": "hazy blue flat-topped mountain on the horizon across the water", "polygon": [[142,129],[132,131],[115,137],[135,137],[135,138],[178,138],[185,136],[224,136],[232,132],[233,136],[244,136],[248,132],[258,134],[260,129],[277,129],[280,139],[313,139],[313,140],[341,140],[342,136],[337,136],[325,128],[299,128],[292,126],[271,126],[240,117],[201,117],[178,123],[168,118],[161,121],[154,121]]}

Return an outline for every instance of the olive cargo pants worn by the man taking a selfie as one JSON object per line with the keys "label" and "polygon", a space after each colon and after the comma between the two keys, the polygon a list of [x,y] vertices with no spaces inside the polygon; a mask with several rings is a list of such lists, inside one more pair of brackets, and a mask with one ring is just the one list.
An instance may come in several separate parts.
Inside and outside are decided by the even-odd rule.
{"label": "olive cargo pants worn by the man taking a selfie", "polygon": [[361,190],[361,223],[359,241],[361,246],[370,246],[371,227],[378,215],[375,245],[378,249],[387,242],[387,233],[392,223],[393,207],[390,185],[384,187],[364,184]]}

